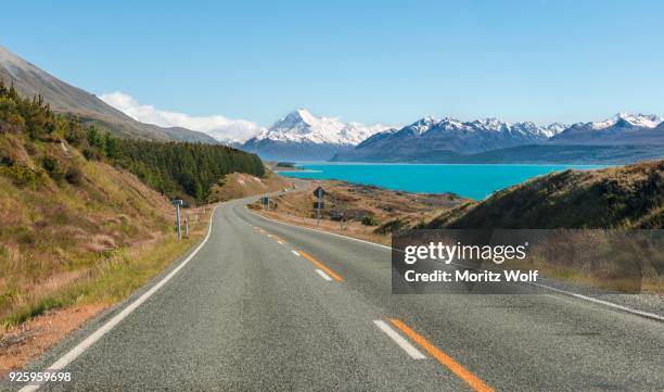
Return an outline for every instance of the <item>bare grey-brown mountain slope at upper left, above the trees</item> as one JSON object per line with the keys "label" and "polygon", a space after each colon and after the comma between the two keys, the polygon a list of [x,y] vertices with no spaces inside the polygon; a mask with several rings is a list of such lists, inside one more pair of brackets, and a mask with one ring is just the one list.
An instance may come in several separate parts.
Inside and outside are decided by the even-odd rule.
{"label": "bare grey-brown mountain slope at upper left, above the trees", "polygon": [[41,94],[54,111],[75,114],[85,123],[94,123],[100,128],[119,136],[217,143],[214,138],[203,132],[140,123],[106,104],[94,94],[55,78],[3,47],[0,47],[0,79],[7,85],[13,84],[22,96]]}

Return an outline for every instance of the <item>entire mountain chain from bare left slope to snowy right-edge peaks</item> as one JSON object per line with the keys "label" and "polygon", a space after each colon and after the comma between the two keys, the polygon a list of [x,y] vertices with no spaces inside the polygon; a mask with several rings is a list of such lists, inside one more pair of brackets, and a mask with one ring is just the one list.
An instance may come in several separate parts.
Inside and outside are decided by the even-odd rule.
{"label": "entire mountain chain from bare left slope to snowy right-edge peaks", "polygon": [[23,96],[40,94],[56,112],[115,135],[225,143],[277,161],[420,163],[629,163],[664,156],[664,118],[618,113],[571,126],[421,118],[405,127],[344,123],[294,111],[244,143],[182,127],[141,123],[0,47],[0,79]]}

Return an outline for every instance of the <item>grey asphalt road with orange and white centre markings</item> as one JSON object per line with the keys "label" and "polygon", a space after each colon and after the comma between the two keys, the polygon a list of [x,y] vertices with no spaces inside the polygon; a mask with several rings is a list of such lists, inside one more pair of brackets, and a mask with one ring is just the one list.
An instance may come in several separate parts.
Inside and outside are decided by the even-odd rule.
{"label": "grey asphalt road with orange and white centre markings", "polygon": [[392,295],[387,249],[246,202],[219,206],[191,261],[40,391],[664,390],[660,321],[562,295]]}

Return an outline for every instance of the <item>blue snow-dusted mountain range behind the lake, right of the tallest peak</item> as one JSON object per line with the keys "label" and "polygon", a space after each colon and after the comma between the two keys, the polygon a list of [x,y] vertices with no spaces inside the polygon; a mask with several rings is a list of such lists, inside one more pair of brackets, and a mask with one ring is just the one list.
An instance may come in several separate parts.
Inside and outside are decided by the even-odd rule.
{"label": "blue snow-dusted mountain range behind the lake, right of the tallest peak", "polygon": [[425,117],[375,134],[332,161],[622,164],[664,156],[663,122],[629,113],[572,126]]}

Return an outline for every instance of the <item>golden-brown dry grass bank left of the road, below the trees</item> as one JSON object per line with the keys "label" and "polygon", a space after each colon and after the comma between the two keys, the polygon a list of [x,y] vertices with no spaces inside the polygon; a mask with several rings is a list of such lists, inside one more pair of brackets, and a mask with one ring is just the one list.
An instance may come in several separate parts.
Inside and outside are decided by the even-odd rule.
{"label": "golden-brown dry grass bank left of the road, below the trees", "polygon": [[[77,303],[116,301],[191,244],[175,241],[168,201],[131,174],[15,135],[0,135],[0,154],[39,178],[29,186],[0,175],[0,326]],[[79,168],[80,184],[41,170],[44,156]],[[155,251],[164,260],[144,262]],[[115,281],[100,284],[108,276]]]}

